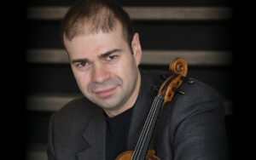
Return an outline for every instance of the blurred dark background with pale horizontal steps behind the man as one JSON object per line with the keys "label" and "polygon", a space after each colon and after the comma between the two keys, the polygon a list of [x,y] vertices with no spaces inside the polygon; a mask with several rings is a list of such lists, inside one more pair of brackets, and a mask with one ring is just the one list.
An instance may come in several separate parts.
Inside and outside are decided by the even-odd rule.
{"label": "blurred dark background with pale horizontal steps behind the man", "polygon": [[[187,60],[189,77],[223,96],[233,155],[232,3],[228,0],[118,0],[140,34],[145,70]],[[26,159],[46,160],[49,117],[81,93],[61,44],[60,24],[74,0],[26,4]]]}

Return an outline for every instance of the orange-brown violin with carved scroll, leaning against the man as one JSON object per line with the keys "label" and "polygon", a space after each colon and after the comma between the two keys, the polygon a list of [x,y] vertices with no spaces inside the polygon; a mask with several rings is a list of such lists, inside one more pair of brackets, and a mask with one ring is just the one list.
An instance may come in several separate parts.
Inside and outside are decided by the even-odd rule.
{"label": "orange-brown violin with carved scroll, leaning against the man", "polygon": [[178,88],[187,76],[187,62],[181,58],[177,58],[172,61],[169,70],[172,74],[161,84],[159,92],[154,98],[154,102],[150,108],[146,122],[144,123],[135,150],[122,152],[115,158],[115,160],[160,160],[160,158],[156,156],[155,151],[153,149],[148,149],[148,146],[154,133],[156,123],[160,117],[162,107],[166,102],[172,100],[175,93],[185,94]]}

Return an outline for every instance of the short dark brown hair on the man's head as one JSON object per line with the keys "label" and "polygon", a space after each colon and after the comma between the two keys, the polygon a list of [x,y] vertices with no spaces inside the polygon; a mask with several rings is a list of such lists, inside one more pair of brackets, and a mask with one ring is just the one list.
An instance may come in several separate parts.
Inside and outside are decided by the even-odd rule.
{"label": "short dark brown hair on the man's head", "polygon": [[63,42],[64,34],[70,41],[83,34],[86,25],[90,26],[90,33],[113,31],[117,22],[123,27],[125,40],[131,44],[134,34],[132,22],[118,3],[112,0],[80,0],[68,10],[61,22],[61,40]]}

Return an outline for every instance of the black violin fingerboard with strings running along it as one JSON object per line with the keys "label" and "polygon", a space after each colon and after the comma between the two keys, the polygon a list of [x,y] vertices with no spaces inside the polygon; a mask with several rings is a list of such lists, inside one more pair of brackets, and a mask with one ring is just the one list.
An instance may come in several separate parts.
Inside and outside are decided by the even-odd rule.
{"label": "black violin fingerboard with strings running along it", "polygon": [[[159,103],[160,103],[160,100],[161,100],[160,97],[163,94],[164,94],[164,92],[160,93],[160,95],[156,96],[156,98],[154,100],[152,108],[150,109],[149,114],[148,114],[147,122],[144,124],[142,135],[140,136],[140,139],[138,140],[138,143],[137,143],[138,145],[137,145],[137,147],[135,149],[133,157],[140,157],[140,155],[142,154],[143,151],[147,151],[148,150],[148,147],[147,148],[143,148],[143,145],[144,145],[145,141],[147,141],[148,139],[150,140],[151,136],[149,136],[149,135],[151,135],[153,130],[154,130],[154,128],[152,128],[152,127],[150,128],[150,124],[156,122],[156,117],[158,116],[158,114],[155,115],[155,112],[156,111],[160,111],[160,108],[158,106],[159,106]],[[147,137],[146,135],[147,135],[148,132],[151,133],[151,134],[148,134],[148,137]],[[138,149],[138,148],[140,148],[140,149]]]}

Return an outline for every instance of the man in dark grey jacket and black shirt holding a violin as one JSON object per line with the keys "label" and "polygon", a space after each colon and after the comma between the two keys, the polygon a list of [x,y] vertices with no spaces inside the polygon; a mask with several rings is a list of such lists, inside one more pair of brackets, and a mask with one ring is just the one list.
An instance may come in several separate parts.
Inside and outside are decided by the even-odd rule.
{"label": "man in dark grey jacket and black shirt holding a violin", "polygon": [[[84,97],[51,117],[49,160],[113,160],[134,150],[164,79],[138,69],[143,52],[128,14],[110,1],[84,0],[66,14],[61,36]],[[219,95],[196,80],[181,89],[186,94],[164,106],[150,147],[164,160],[226,159]]]}

